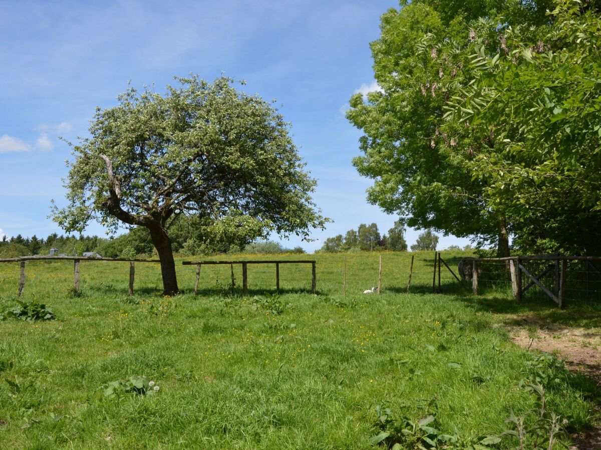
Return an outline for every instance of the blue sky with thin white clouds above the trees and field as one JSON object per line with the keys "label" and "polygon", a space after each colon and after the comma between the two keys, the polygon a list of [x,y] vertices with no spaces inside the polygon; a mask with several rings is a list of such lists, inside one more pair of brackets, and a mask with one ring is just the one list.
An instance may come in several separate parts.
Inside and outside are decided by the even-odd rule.
{"label": "blue sky with thin white clouds above the trees and field", "polygon": [[[162,91],[172,76],[222,72],[245,91],[281,104],[294,141],[319,179],[314,195],[334,220],[315,242],[396,217],[365,201],[371,181],[356,173],[361,135],[344,118],[350,96],[375,86],[370,41],[394,0],[2,1],[0,0],[0,235],[45,237],[64,204],[61,178],[70,149],[87,134],[94,107],[111,107],[127,88]],[[419,232],[407,230],[407,242]],[[99,224],[86,234],[104,235]],[[439,248],[465,245],[441,236]]]}

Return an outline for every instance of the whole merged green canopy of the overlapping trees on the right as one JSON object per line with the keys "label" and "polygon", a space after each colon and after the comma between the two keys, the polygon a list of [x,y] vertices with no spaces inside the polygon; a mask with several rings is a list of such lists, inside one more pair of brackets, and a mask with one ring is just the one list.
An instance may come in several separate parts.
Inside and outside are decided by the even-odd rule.
{"label": "whole merged green canopy of the overlapping trees on the right", "polygon": [[[380,91],[347,113],[364,131],[353,164],[374,179],[368,200],[502,255],[509,235],[525,250],[589,251],[600,227],[588,175],[601,173],[592,5],[418,0],[385,13],[371,44]],[[587,242],[566,235],[574,217]]]}

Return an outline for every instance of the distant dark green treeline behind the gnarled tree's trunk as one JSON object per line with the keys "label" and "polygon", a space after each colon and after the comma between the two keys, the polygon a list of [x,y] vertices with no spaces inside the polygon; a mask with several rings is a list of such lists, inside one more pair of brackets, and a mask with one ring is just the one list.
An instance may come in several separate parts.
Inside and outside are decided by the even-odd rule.
{"label": "distant dark green treeline behind the gnarled tree's trunk", "polygon": [[[305,253],[302,247],[285,248],[278,242],[257,241],[248,244],[220,243],[211,245],[203,242],[186,227],[174,227],[170,233],[173,250],[185,256],[218,253]],[[156,255],[147,229],[135,228],[116,238],[99,236],[63,236],[52,233],[47,238],[23,238],[21,235],[0,241],[0,258],[13,258],[36,254],[50,254],[51,248],[57,248],[59,254],[81,256],[84,252],[96,252],[103,257],[139,257]]]}

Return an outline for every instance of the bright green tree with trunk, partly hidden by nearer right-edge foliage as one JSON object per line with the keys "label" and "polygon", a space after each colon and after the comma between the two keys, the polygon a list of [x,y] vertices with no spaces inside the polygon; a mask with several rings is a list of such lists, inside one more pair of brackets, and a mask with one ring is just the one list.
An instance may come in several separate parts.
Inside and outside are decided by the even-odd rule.
{"label": "bright green tree with trunk, partly hidden by nearer right-edge foliage", "polygon": [[[545,22],[548,2],[413,1],[382,16],[382,35],[371,43],[380,91],[356,94],[349,120],[364,131],[364,155],[353,160],[359,173],[374,179],[368,200],[399,214],[404,223],[457,236],[477,236],[508,254],[510,219],[483,196],[486,180],[472,177],[453,136],[441,130],[448,98],[443,86],[461,66],[442,68],[450,42],[469,52],[471,23],[480,16],[512,23]],[[466,43],[462,46],[459,43]],[[466,53],[469,54],[469,53]],[[486,139],[486,136],[483,136]]]}

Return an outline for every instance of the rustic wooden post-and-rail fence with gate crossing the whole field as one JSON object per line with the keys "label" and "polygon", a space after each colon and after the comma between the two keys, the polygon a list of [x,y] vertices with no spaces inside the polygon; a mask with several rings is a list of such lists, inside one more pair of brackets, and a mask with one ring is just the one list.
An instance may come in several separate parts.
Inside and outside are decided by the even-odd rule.
{"label": "rustic wooden post-and-rail fence with gate crossing the whole field", "polygon": [[[274,256],[272,256],[273,258]],[[262,257],[261,257],[262,258]],[[258,259],[249,257],[237,261],[191,261],[188,265],[206,265],[203,277],[189,270],[187,266],[176,266],[177,277],[184,291],[203,293],[228,293],[234,290],[234,263],[256,268],[248,268],[248,277],[254,292],[281,290],[281,277],[285,292],[317,292],[315,263],[319,262],[320,293],[341,293],[359,295],[364,290],[386,293],[456,293],[459,295],[484,295],[514,298],[517,301],[540,301],[553,299],[563,306],[566,301],[582,299],[601,301],[601,257],[580,257],[561,255],[511,256],[507,258],[460,257],[451,253],[415,252],[409,258],[406,253],[367,254],[318,254],[316,259],[297,260]],[[65,277],[66,262],[73,261],[73,278]],[[87,262],[81,267],[81,262]],[[134,280],[144,286],[142,292],[162,290],[160,271],[156,259],[127,258],[86,258],[86,257],[22,257],[0,259],[0,262],[17,266],[17,272],[0,270],[0,288],[14,283],[17,295],[23,292],[39,292],[41,289],[69,289],[79,292],[80,285],[91,289],[108,289],[114,292],[133,294]],[[129,262],[123,272],[115,270],[112,263]],[[309,278],[289,263],[311,263],[313,265],[311,284]],[[463,262],[464,272],[459,271]],[[46,263],[49,263],[46,265]],[[94,264],[96,263],[96,264]],[[142,263],[141,265],[136,263]],[[143,263],[150,263],[143,264]],[[155,264],[153,267],[152,263]],[[280,264],[290,268],[281,271]],[[230,265],[230,267],[226,267]],[[3,265],[0,265],[0,268]],[[469,273],[465,268],[469,266]],[[198,268],[198,267],[197,267]],[[242,269],[242,278],[245,278]],[[275,272],[275,277],[273,273]],[[18,274],[18,275],[17,275]],[[27,275],[27,277],[25,277]],[[230,284],[231,279],[231,284]],[[127,281],[129,283],[127,283]],[[201,284],[199,284],[201,281]],[[27,286],[25,284],[27,283]],[[17,284],[18,283],[18,284]],[[115,285],[115,286],[113,286]],[[18,287],[17,287],[18,286]],[[237,287],[237,286],[236,286]],[[128,289],[129,288],[129,289]],[[240,289],[248,293],[248,289]],[[2,292],[2,289],[0,289]]]}

